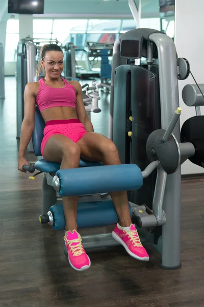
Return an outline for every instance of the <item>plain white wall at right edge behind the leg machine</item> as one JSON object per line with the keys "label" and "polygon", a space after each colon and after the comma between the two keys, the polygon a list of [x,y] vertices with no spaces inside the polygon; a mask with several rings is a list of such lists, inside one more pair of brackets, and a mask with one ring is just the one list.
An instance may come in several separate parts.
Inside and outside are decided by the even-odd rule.
{"label": "plain white wall at right edge behind the leg machine", "polygon": [[[203,28],[204,1],[175,0],[175,47],[178,57],[188,59],[193,76],[197,83],[204,83],[203,79]],[[179,80],[180,106],[182,107],[182,124],[195,116],[195,108],[186,106],[182,99],[182,90],[186,84],[195,84],[191,75],[186,80]],[[200,107],[204,115],[204,107]],[[183,174],[203,173],[204,169],[187,160],[182,165]]]}

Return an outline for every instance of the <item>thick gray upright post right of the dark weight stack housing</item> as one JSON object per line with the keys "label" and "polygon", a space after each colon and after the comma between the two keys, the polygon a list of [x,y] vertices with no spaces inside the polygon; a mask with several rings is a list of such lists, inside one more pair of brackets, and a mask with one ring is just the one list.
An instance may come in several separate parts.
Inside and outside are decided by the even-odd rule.
{"label": "thick gray upright post right of the dark weight stack housing", "polygon": [[[149,39],[158,49],[160,100],[162,128],[166,129],[175,109],[179,107],[179,85],[176,67],[176,50],[173,40],[161,33],[152,33]],[[177,121],[173,134],[180,143],[180,123]],[[168,176],[164,194],[163,209],[167,220],[162,227],[163,269],[181,267],[181,166]]]}

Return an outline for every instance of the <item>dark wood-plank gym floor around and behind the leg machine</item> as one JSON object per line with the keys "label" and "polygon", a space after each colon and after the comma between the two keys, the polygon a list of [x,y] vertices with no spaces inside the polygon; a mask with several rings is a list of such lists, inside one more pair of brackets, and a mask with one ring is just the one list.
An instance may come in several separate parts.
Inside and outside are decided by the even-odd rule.
{"label": "dark wood-plank gym floor around and behind the leg machine", "polygon": [[[110,96],[92,115],[95,131],[108,136]],[[204,306],[204,179],[182,184],[182,268],[160,269],[160,254],[146,245],[149,262],[122,247],[89,253],[91,267],[74,271],[63,253],[63,232],[39,224],[42,175],[17,170],[16,82],[6,78],[0,100],[0,307]],[[30,162],[36,157],[28,153]],[[101,233],[111,228],[80,231]]]}

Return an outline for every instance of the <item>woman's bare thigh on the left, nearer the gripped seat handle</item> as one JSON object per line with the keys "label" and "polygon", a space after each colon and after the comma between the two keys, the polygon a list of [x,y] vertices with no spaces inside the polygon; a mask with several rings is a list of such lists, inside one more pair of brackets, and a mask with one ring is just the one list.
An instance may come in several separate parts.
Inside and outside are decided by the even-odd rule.
{"label": "woman's bare thigh on the left, nearer the gripped seat handle", "polygon": [[49,162],[61,163],[64,154],[79,147],[72,140],[61,134],[56,134],[47,140],[43,149],[43,158]]}

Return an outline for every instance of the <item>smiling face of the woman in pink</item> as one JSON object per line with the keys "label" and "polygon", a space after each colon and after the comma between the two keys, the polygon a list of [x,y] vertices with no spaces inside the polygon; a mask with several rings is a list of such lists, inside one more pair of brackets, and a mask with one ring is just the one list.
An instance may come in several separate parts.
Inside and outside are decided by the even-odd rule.
{"label": "smiling face of the woman in pink", "polygon": [[41,60],[41,65],[50,77],[59,78],[64,68],[63,53],[61,51],[47,51],[44,60]]}

